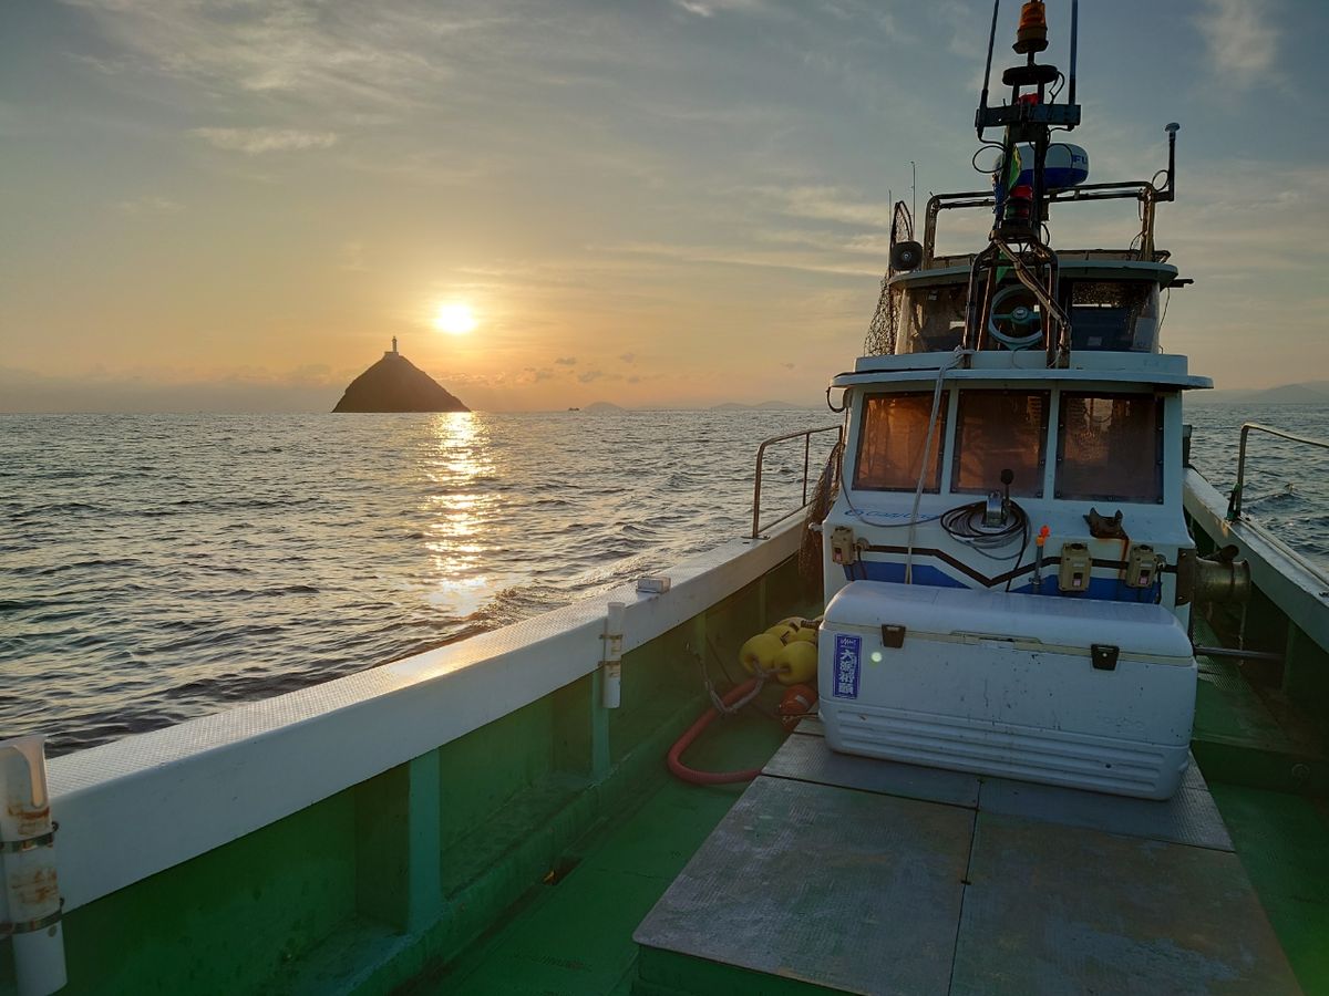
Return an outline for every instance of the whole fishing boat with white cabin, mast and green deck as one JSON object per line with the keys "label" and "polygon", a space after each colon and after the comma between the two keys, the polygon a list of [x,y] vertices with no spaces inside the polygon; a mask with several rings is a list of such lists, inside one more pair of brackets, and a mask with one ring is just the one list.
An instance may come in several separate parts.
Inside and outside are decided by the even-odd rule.
{"label": "whole fishing boat with white cabin, mast and green deck", "polygon": [[[1074,3],[1070,40],[1039,62],[1023,4],[991,189],[921,239],[896,207],[840,418],[760,445],[750,535],[49,764],[0,744],[0,993],[1329,992],[1329,578],[1243,510],[1248,436],[1297,437],[1243,428],[1227,493],[1189,466],[1177,127],[1163,182],[1090,183]],[[1053,248],[1103,199],[1132,242]],[[956,210],[989,240],[941,255]],[[766,507],[789,446],[801,507]]]}

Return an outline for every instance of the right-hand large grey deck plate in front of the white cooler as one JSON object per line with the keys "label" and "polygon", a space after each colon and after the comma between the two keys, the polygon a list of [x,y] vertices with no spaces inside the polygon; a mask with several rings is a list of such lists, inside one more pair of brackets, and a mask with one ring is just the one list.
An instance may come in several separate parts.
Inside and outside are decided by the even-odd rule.
{"label": "right-hand large grey deck plate in front of the white cooler", "polygon": [[978,814],[952,996],[1298,993],[1235,854]]}

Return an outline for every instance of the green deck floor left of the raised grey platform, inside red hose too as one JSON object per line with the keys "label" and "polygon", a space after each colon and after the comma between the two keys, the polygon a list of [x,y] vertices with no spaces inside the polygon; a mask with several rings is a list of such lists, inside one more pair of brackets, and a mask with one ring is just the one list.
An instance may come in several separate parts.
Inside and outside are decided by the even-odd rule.
{"label": "green deck floor left of the raised grey platform, inside red hose too", "polygon": [[[783,740],[775,721],[750,709],[712,724],[684,760],[704,770],[760,768]],[[662,778],[635,811],[566,855],[571,867],[554,884],[540,887],[498,931],[408,992],[629,993],[637,960],[633,930],[744,788]]]}

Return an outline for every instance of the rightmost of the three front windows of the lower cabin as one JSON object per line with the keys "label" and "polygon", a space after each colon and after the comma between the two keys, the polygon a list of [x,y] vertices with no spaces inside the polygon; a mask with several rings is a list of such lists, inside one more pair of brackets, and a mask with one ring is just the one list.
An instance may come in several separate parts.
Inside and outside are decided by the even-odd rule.
{"label": "rightmost of the three front windows of the lower cabin", "polygon": [[1057,497],[1163,501],[1163,402],[1154,394],[1062,394]]}

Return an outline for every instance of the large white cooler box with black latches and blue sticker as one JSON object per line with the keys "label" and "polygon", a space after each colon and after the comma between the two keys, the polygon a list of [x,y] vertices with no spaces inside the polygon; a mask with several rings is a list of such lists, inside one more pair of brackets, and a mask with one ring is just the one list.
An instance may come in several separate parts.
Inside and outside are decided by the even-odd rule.
{"label": "large white cooler box with black latches and blue sticker", "polygon": [[852,582],[817,683],[835,750],[1166,799],[1196,667],[1162,606]]}

